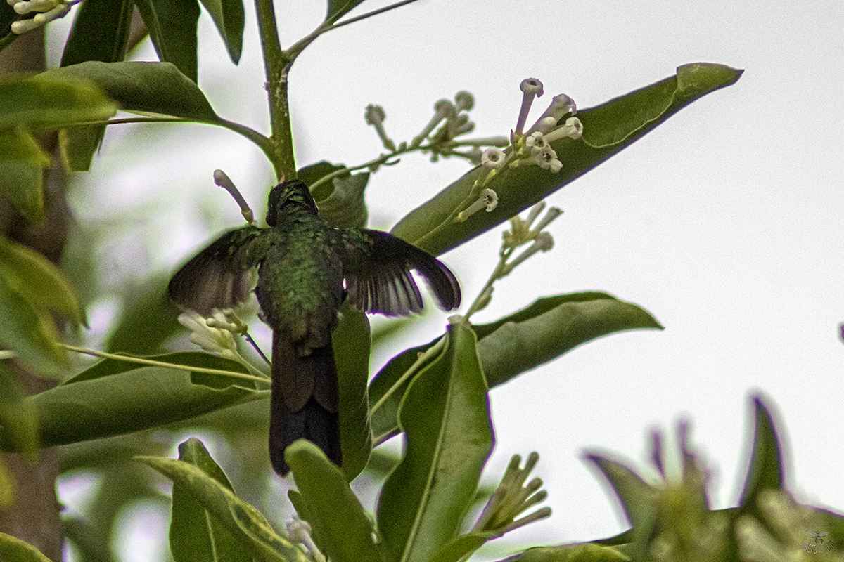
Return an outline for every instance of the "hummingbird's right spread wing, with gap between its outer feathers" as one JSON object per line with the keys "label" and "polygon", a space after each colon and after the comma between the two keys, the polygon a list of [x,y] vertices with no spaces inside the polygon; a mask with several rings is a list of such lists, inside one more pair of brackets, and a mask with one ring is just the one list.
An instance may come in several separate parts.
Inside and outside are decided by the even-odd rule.
{"label": "hummingbird's right spread wing, with gap between its outer feathers", "polygon": [[378,230],[345,228],[338,232],[347,298],[354,306],[387,316],[418,313],[422,295],[410,270],[425,278],[441,308],[460,306],[457,279],[431,254]]}

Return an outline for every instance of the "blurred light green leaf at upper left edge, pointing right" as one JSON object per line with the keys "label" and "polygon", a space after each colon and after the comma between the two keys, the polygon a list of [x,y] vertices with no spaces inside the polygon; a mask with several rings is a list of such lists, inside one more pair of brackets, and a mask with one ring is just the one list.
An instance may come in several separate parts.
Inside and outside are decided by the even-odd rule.
{"label": "blurred light green leaf at upper left edge, pointing right", "polygon": [[115,105],[94,83],[61,72],[61,69],[41,72],[32,78],[3,77],[0,130],[55,130],[114,115]]}

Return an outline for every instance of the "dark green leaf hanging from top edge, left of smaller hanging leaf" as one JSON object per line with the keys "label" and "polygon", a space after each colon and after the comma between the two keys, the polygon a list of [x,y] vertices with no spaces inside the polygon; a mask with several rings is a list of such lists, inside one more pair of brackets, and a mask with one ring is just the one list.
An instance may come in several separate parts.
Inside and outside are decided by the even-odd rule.
{"label": "dark green leaf hanging from top edge, left of smaller hanging leaf", "polygon": [[197,82],[197,0],[136,0],[155,52]]}

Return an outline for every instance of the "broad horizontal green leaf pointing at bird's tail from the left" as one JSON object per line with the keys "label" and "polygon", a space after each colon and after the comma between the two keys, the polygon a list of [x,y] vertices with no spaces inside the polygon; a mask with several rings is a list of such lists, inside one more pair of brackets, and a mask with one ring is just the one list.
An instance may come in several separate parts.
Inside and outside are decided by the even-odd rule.
{"label": "broad horizontal green leaf pointing at bird's tail from the left", "polygon": [[193,384],[189,372],[143,367],[62,384],[30,400],[38,413],[41,445],[51,447],[160,427],[261,398],[264,394],[245,388]]}

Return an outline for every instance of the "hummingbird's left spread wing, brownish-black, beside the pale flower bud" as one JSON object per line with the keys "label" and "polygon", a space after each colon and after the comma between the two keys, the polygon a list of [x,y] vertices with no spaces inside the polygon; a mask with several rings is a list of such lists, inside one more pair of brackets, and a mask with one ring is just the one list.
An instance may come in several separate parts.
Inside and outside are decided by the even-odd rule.
{"label": "hummingbird's left spread wing, brownish-black, beside the pale flower bud", "polygon": [[230,230],[176,272],[167,286],[170,299],[201,314],[246,302],[255,285],[254,270],[271,243],[268,229]]}

